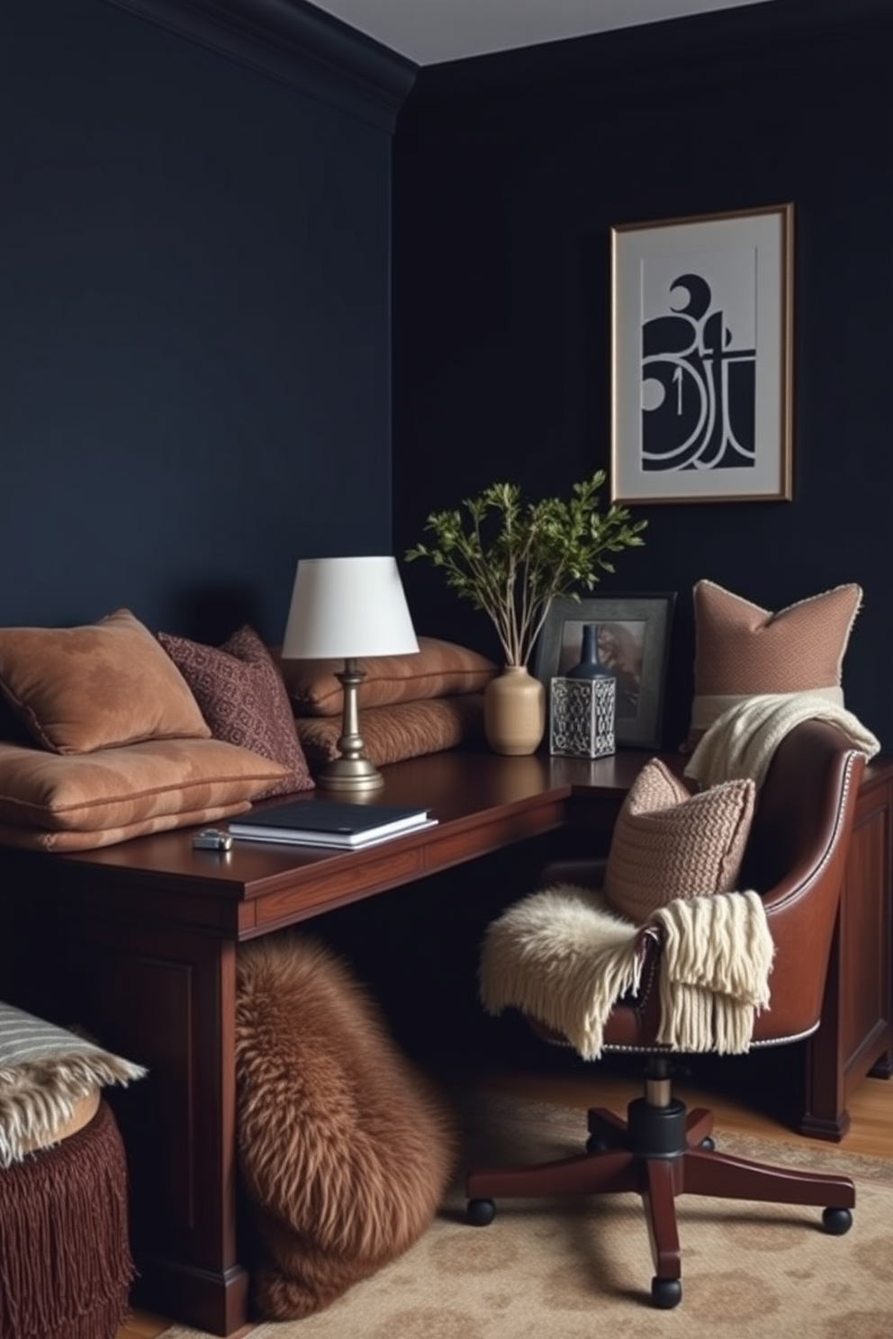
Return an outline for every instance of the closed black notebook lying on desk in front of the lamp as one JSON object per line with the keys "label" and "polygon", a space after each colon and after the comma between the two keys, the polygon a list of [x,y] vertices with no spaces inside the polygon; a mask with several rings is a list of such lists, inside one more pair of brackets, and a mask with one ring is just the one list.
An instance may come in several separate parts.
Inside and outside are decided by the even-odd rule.
{"label": "closed black notebook lying on desk in front of the lamp", "polygon": [[402,805],[353,805],[339,799],[307,799],[274,805],[229,823],[233,837],[278,841],[299,846],[368,846],[419,828],[432,828],[427,809]]}

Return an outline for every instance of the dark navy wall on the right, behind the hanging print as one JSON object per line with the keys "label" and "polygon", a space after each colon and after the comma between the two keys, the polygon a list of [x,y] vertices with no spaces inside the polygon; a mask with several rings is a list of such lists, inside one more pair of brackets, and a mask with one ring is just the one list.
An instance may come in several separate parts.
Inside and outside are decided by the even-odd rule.
{"label": "dark navy wall on the right, behind the hanging print", "polygon": [[[399,115],[398,552],[491,479],[608,467],[612,225],[794,202],[794,501],[637,509],[601,586],[679,592],[667,747],[710,577],[768,609],[858,581],[846,700],[893,750],[892,70],[888,0],[773,0],[426,67]],[[407,590],[422,632],[495,653],[434,570]]]}

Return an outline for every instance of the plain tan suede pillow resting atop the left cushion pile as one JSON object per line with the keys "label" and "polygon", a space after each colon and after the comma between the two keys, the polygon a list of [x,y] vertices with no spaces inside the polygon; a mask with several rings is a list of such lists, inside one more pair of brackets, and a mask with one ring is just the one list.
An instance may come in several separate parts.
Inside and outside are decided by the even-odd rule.
{"label": "plain tan suede pillow resting atop the left cushion pile", "polygon": [[0,692],[56,754],[210,736],[179,670],[129,609],[82,628],[0,628]]}

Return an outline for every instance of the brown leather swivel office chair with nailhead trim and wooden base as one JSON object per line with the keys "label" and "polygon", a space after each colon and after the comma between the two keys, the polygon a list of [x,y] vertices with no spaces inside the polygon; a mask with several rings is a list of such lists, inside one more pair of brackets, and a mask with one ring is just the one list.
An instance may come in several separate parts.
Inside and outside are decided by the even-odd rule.
{"label": "brown leather swivel office chair with nailhead trim and wooden base", "polygon": [[[781,742],[758,795],[739,886],[760,893],[775,945],[771,1007],[758,1014],[752,1047],[797,1042],[821,1020],[827,961],[843,865],[865,755],[834,726],[807,720]],[[602,862],[562,862],[544,872],[544,886],[600,886]],[[656,1043],[660,1003],[656,971],[660,936],[647,929],[651,961],[640,995],[615,1006],[605,1051],[647,1055],[644,1094],[627,1119],[604,1109],[588,1113],[586,1152],[537,1166],[475,1168],[466,1178],[467,1218],[486,1227],[494,1198],[637,1192],[645,1208],[655,1265],[651,1297],[661,1308],[681,1300],[676,1196],[700,1194],[779,1204],[825,1205],[823,1227],[851,1225],[853,1182],[791,1168],[770,1168],[714,1148],[712,1113],[687,1110],[671,1094],[671,1052]],[[527,1019],[546,1040],[562,1039]],[[566,1043],[565,1043],[566,1044]]]}

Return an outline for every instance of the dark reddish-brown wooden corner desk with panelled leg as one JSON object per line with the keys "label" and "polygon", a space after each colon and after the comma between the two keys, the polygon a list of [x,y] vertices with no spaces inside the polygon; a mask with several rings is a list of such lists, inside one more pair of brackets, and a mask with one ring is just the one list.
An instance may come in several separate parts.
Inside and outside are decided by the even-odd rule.
{"label": "dark reddish-brown wooden corner desk with panelled leg", "polygon": [[[236,951],[252,939],[569,825],[609,834],[644,753],[596,762],[444,753],[387,770],[376,798],[439,826],[367,852],[190,832],[47,857],[0,849],[4,996],[149,1066],[115,1109],[129,1150],[141,1304],[229,1335],[246,1320],[237,1240]],[[681,769],[681,759],[675,759]],[[846,1098],[889,1073],[893,761],[862,787],[802,1127],[839,1138]]]}

